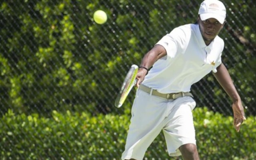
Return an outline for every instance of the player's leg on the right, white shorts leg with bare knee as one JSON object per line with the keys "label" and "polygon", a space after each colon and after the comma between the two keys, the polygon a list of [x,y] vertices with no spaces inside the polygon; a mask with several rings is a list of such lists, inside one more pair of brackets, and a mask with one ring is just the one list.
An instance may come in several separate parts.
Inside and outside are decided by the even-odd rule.
{"label": "player's leg on the right, white shorts leg with bare knee", "polygon": [[[173,108],[172,105],[174,105]],[[192,116],[192,109],[195,106],[196,103],[191,97],[178,98],[174,102],[170,102],[170,114],[166,118],[167,124],[163,128],[170,156],[182,155],[184,160],[194,160],[193,158],[188,159],[188,157],[193,153],[198,154]]]}

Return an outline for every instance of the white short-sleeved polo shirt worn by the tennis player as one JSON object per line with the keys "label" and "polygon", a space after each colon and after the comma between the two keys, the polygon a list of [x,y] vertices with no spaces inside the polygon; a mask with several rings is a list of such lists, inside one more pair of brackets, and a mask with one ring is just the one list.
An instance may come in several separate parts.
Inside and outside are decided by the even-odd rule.
{"label": "white short-sleeved polo shirt worn by the tennis player", "polygon": [[224,49],[219,36],[206,46],[198,24],[174,28],[156,45],[163,46],[167,56],[155,62],[142,84],[160,93],[189,92],[211,70],[217,72]]}

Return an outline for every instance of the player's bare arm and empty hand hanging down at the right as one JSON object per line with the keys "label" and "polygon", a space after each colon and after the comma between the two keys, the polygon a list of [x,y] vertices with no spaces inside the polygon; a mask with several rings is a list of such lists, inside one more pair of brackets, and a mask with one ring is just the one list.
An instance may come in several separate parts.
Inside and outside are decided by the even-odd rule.
{"label": "player's bare arm and empty hand hanging down at the right", "polygon": [[236,128],[236,131],[239,132],[242,122],[246,120],[241,98],[224,64],[221,63],[220,66],[217,67],[217,72],[213,74],[233,102],[234,127]]}

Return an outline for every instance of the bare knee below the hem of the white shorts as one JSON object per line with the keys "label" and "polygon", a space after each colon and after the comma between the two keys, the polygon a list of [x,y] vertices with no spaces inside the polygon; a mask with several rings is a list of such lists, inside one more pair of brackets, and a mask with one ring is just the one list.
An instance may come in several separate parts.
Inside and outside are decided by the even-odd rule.
{"label": "bare knee below the hem of the white shorts", "polygon": [[198,151],[195,144],[184,144],[180,146],[179,149],[184,160],[199,160]]}

